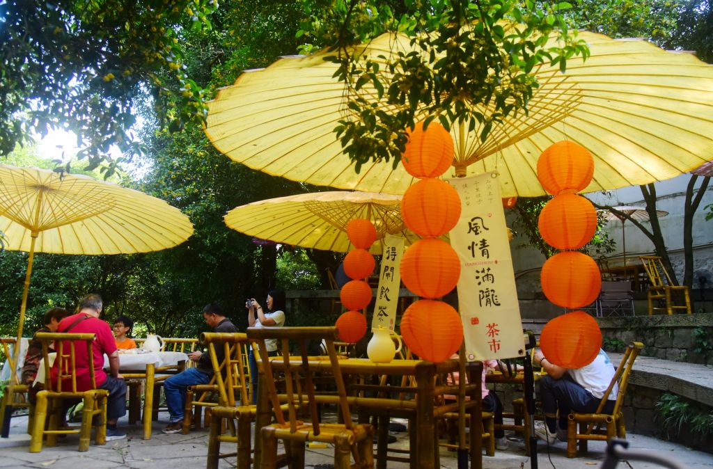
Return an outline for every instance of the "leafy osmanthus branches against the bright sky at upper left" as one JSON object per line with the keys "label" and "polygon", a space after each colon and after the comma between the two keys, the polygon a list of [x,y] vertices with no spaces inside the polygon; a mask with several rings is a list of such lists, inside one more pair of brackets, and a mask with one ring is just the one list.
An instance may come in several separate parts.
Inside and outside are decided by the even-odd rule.
{"label": "leafy osmanthus branches against the bright sky at upper left", "polygon": [[50,128],[76,133],[91,167],[111,145],[131,155],[139,150],[132,105],[148,89],[178,95],[167,122],[173,130],[202,119],[203,92],[185,73],[182,33],[209,28],[216,7],[217,0],[1,2],[0,155]]}

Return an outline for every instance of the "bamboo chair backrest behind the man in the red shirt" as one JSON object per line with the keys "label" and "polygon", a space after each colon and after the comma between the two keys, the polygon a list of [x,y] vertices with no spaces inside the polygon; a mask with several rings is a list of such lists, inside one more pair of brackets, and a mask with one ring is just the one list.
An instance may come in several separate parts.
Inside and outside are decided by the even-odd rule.
{"label": "bamboo chair backrest behind the man in the red shirt", "polygon": [[[38,332],[35,334],[35,339],[42,344],[42,357],[45,368],[45,383],[46,391],[54,391],[58,393],[80,392],[77,389],[77,356],[86,354],[89,368],[89,379],[91,388],[96,389],[96,378],[94,376],[94,354],[92,344],[95,334],[71,334],[65,332]],[[54,344],[56,357],[53,366],[50,366],[49,349],[50,345]],[[57,382],[53,383],[51,376],[51,368],[57,368]],[[63,389],[62,382],[69,380],[71,389]],[[56,389],[55,389],[56,387]]]}

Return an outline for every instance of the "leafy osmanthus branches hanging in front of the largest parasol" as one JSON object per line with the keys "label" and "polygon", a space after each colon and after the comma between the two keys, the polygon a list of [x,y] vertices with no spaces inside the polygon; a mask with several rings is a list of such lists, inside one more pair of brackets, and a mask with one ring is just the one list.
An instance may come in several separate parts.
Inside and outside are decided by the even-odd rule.
{"label": "leafy osmanthus branches hanging in front of the largest parasol", "polygon": [[[538,87],[535,66],[565,70],[568,58],[588,56],[561,16],[566,2],[409,0],[400,14],[381,1],[322,3],[324,13],[301,33],[334,50],[346,98],[334,131],[356,172],[370,160],[393,159],[396,167],[406,128],[423,116],[446,128],[480,125],[485,140],[493,123],[525,112]],[[410,50],[377,58],[354,47],[384,31],[409,36]],[[556,46],[547,44],[552,35]]]}

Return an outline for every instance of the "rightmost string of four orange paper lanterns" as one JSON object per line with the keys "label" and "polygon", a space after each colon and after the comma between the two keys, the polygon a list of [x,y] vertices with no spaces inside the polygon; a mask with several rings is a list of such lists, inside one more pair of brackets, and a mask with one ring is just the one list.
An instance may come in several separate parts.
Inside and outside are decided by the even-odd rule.
{"label": "rightmost string of four orange paper lanterns", "polygon": [[[547,148],[537,164],[540,183],[555,197],[540,212],[538,230],[545,242],[562,249],[542,267],[545,297],[568,309],[591,304],[602,288],[597,263],[577,252],[592,239],[597,213],[592,202],[578,195],[592,180],[594,160],[586,148],[563,140]],[[540,348],[548,361],[565,368],[581,368],[599,353],[602,333],[584,311],[572,311],[545,324]]]}

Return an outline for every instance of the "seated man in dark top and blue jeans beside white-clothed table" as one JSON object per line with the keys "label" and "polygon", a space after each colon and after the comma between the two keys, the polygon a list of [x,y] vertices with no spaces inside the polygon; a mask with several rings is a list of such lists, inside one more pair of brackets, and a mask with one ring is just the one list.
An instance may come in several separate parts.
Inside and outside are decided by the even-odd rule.
{"label": "seated man in dark top and blue jeans beside white-clothed table", "polygon": [[[205,324],[212,327],[213,332],[237,332],[235,324],[225,317],[222,308],[217,304],[207,304],[203,308],[203,319]],[[223,351],[220,347],[215,350],[218,362],[223,360]],[[210,363],[210,354],[202,351],[194,351],[188,354],[191,361],[195,361],[193,368],[186,368],[185,371],[171,376],[163,382],[163,390],[166,394],[166,405],[170,414],[170,422],[163,429],[163,433],[179,433],[183,431],[183,408],[185,407],[185,390],[188,386],[195,384],[210,383],[213,377],[213,366]]]}

